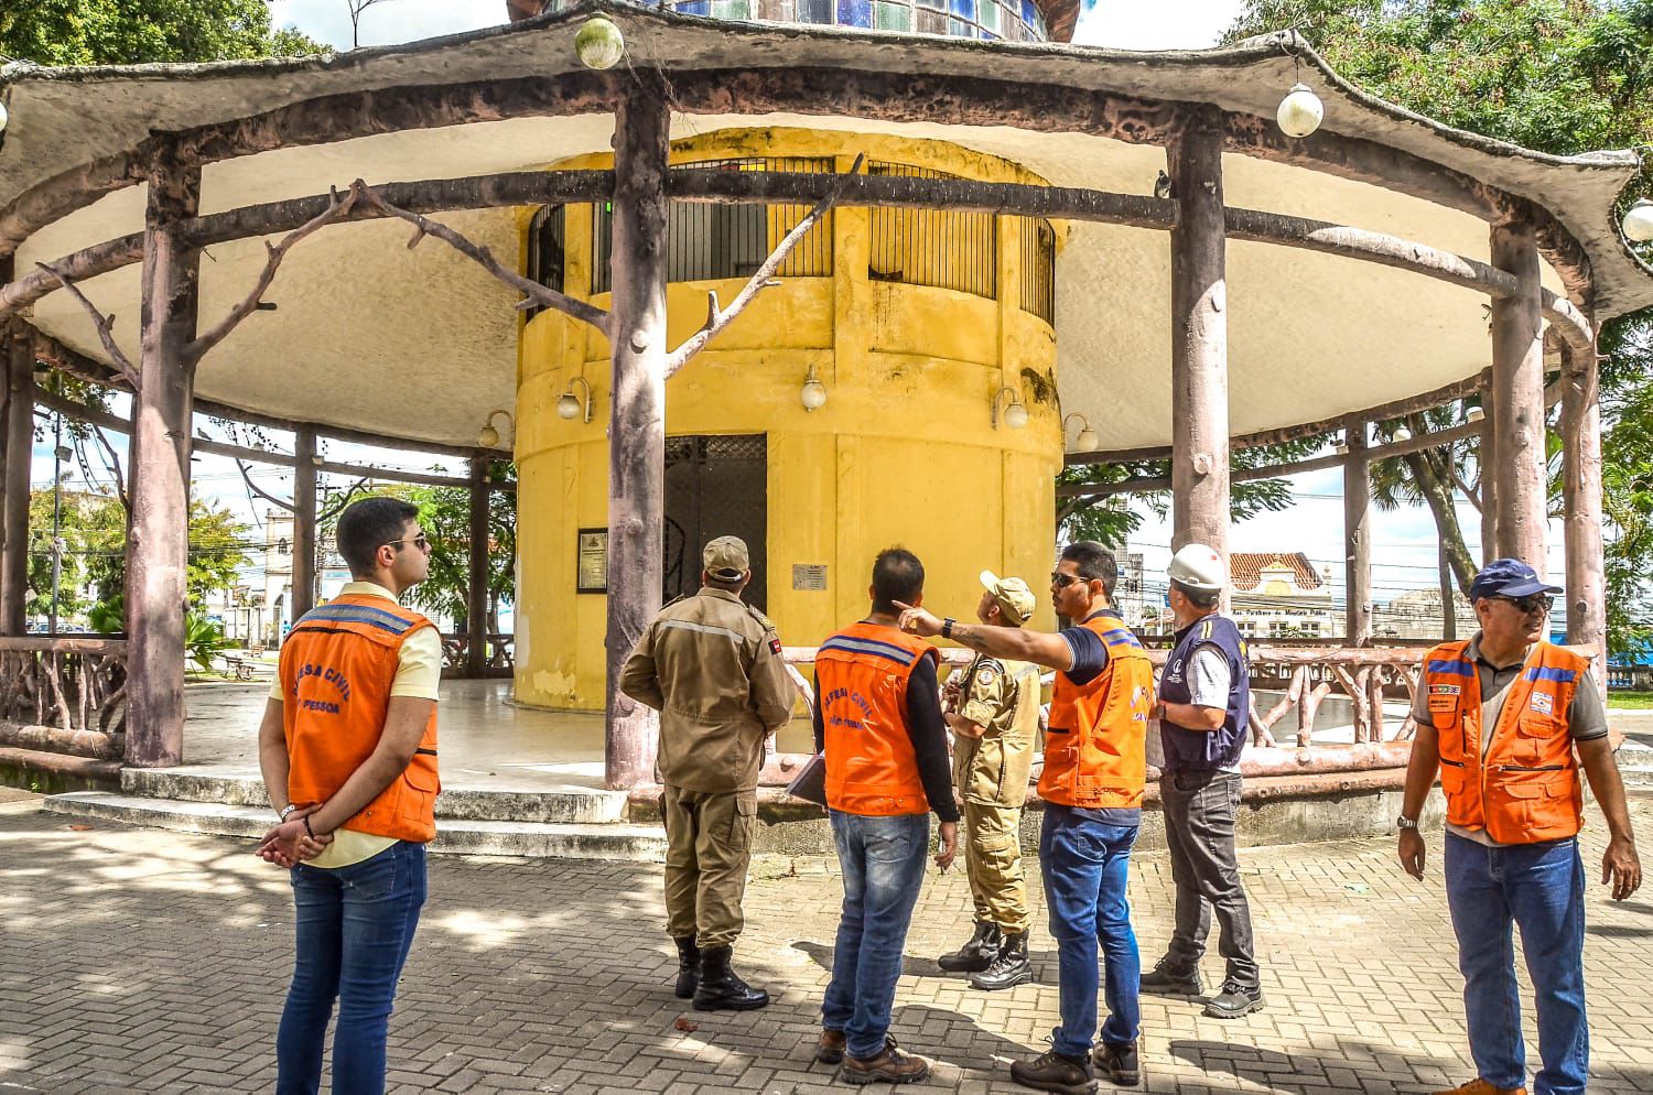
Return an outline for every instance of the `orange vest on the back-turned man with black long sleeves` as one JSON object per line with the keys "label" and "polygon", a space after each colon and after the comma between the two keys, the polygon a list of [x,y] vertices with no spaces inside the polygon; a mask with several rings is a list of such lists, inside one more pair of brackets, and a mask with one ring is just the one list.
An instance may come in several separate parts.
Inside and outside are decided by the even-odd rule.
{"label": "orange vest on the back-turned man with black long sleeves", "polygon": [[907,732],[907,682],[922,639],[884,624],[850,624],[815,652],[826,745],[826,804],[845,814],[929,813]]}

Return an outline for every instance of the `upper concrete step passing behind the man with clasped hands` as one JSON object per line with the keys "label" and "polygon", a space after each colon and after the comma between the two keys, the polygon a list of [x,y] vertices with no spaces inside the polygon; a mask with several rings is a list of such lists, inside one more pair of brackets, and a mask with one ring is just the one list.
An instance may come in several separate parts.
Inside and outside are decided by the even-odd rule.
{"label": "upper concrete step passing behind the man with clasped hands", "polygon": [[[121,793],[180,803],[263,806],[264,781],[256,773],[210,768],[126,768]],[[625,791],[562,786],[547,789],[448,786],[436,796],[436,818],[451,821],[532,821],[542,824],[617,824],[625,819]]]}

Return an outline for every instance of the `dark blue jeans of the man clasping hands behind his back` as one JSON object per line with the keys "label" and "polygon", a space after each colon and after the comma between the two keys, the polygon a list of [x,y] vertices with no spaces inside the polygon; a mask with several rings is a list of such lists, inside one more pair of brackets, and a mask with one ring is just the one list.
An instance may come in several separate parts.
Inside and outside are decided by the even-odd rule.
{"label": "dark blue jeans of the man clasping hands behind his back", "polygon": [[385,1034],[402,963],[425,903],[425,846],[392,844],[349,867],[293,869],[298,960],[276,1032],[276,1095],[321,1090],[332,1001],[334,1095],[382,1095]]}

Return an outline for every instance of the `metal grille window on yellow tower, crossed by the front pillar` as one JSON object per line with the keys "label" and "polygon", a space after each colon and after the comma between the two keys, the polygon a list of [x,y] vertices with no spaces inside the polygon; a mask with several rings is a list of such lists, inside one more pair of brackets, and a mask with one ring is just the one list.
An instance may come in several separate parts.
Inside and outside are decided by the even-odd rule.
{"label": "metal grille window on yellow tower, crossed by the front pillar", "polygon": [[[742,157],[673,167],[815,175],[831,172],[833,160],[831,157]],[[750,277],[808,211],[808,205],[673,201],[666,210],[666,279]],[[613,258],[612,246],[613,206],[605,201],[597,206],[597,215],[592,218],[592,292],[613,289],[608,266]],[[831,276],[831,211],[815,221],[775,273],[780,277]]]}

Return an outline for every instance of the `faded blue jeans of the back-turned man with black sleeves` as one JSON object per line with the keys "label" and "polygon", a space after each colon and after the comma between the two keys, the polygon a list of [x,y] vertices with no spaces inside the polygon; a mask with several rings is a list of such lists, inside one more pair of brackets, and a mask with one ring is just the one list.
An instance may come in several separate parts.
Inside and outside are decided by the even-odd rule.
{"label": "faded blue jeans of the back-turned man with black sleeves", "polygon": [[851,1057],[876,1057],[889,1032],[912,907],[929,859],[929,814],[863,818],[831,811],[843,867],[843,917],[822,1026],[843,1031]]}

